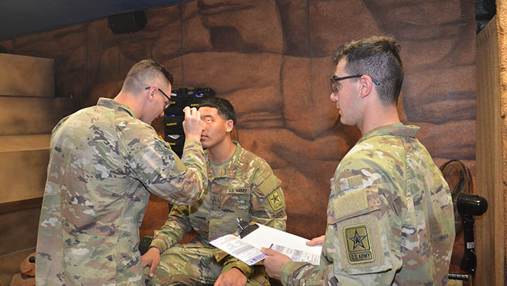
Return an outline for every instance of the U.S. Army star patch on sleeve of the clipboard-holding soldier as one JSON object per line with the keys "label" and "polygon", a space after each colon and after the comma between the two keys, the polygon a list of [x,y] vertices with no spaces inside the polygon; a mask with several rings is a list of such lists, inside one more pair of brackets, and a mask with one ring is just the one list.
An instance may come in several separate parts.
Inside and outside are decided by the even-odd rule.
{"label": "U.S. Army star patch on sleeve of the clipboard-holding soldier", "polygon": [[371,233],[368,225],[350,225],[343,228],[345,250],[350,264],[373,262],[375,253],[371,247]]}

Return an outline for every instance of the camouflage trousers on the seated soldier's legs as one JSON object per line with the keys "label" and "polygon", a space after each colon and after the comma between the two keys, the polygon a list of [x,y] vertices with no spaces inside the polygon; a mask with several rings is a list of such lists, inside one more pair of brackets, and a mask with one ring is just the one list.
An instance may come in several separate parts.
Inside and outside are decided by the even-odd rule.
{"label": "camouflage trousers on the seated soldier's legs", "polygon": [[[213,246],[204,246],[195,241],[172,246],[162,253],[155,276],[147,285],[213,285],[222,270],[222,264],[217,263],[213,256],[215,250]],[[145,278],[149,279],[149,266],[144,273]],[[264,267],[255,266],[246,285],[269,286]]]}

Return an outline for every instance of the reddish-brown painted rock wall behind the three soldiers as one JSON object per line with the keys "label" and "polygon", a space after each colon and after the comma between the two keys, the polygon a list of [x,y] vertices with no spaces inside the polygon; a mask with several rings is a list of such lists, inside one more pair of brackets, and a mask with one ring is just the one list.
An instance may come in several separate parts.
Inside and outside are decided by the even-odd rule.
{"label": "reddish-brown painted rock wall behind the three soldiers", "polygon": [[[57,96],[78,98],[80,107],[113,98],[146,58],[171,70],[175,88],[213,88],[236,107],[237,140],[282,179],[287,231],[312,238],[324,234],[329,179],[360,137],[329,100],[329,55],[345,41],[390,34],[406,72],[402,121],[421,127],[437,165],[459,159],[475,173],[473,1],[196,0],[146,15],[137,33],[115,35],[103,19],[0,44],[55,59]],[[164,132],[162,120],[154,125]],[[152,196],[141,235],[159,229],[167,211]]]}

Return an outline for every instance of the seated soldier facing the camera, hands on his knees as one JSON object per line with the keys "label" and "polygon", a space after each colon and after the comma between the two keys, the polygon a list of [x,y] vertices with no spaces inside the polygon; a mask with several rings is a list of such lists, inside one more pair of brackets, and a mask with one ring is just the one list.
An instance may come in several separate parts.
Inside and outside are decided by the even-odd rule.
{"label": "seated soldier facing the camera, hands on his knees", "polygon": [[[250,267],[208,241],[231,234],[237,217],[285,231],[285,198],[266,161],[231,140],[234,107],[223,98],[199,105],[208,189],[199,202],[173,206],[162,231],[143,255],[150,285],[269,285],[262,266]],[[197,237],[178,244],[194,229]],[[162,254],[162,259],[161,259]],[[160,263],[159,263],[160,262]]]}

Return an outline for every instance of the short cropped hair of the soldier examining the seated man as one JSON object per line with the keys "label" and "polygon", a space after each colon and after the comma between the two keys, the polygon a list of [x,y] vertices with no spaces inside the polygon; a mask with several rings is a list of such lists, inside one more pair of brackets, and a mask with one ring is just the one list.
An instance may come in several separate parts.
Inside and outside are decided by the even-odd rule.
{"label": "short cropped hair of the soldier examining the seated man", "polygon": [[174,84],[173,75],[169,73],[169,70],[166,70],[157,61],[144,59],[130,68],[123,82],[122,89],[140,92],[144,89],[145,84],[151,84],[153,80],[162,75],[171,83],[171,86]]}

